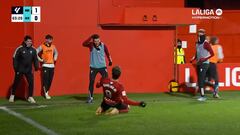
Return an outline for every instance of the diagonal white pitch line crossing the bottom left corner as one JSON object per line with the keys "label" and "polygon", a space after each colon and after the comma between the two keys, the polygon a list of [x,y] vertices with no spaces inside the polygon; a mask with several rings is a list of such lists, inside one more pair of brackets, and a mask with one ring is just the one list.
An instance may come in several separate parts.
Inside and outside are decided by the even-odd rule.
{"label": "diagonal white pitch line crossing the bottom left corner", "polygon": [[28,117],[23,116],[21,113],[17,113],[15,111],[11,110],[5,106],[0,106],[0,110],[3,110],[5,112],[7,112],[8,114],[13,115],[13,116],[25,121],[26,123],[38,128],[39,130],[41,130],[43,133],[46,133],[47,135],[58,135],[56,132],[50,130],[49,128],[37,123],[36,121],[34,121]]}

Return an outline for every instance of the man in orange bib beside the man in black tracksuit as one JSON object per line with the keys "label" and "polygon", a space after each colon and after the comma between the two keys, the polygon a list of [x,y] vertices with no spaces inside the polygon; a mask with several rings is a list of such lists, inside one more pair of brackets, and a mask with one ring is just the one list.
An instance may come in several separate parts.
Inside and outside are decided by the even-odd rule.
{"label": "man in orange bib beside the man in black tracksuit", "polygon": [[37,54],[41,53],[38,60],[42,62],[42,83],[43,92],[46,99],[51,99],[49,90],[54,76],[55,62],[58,58],[58,51],[56,46],[52,44],[53,36],[46,35],[45,42],[37,48]]}

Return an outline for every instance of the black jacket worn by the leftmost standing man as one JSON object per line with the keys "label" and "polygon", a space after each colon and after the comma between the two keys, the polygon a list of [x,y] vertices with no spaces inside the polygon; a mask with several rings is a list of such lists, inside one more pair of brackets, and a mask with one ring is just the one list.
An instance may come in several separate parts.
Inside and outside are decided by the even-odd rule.
{"label": "black jacket worn by the leftmost standing man", "polygon": [[20,45],[13,54],[13,67],[15,72],[32,72],[32,64],[35,70],[38,70],[39,65],[36,49],[32,46],[27,47],[25,44]]}

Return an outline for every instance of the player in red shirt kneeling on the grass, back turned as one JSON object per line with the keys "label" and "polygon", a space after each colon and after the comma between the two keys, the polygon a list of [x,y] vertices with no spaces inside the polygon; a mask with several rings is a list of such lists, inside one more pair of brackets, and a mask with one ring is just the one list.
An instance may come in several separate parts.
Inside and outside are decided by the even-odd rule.
{"label": "player in red shirt kneeling on the grass, back turned", "polygon": [[132,101],[128,99],[123,85],[119,83],[118,79],[121,75],[119,66],[112,68],[112,78],[102,78],[97,83],[97,88],[103,88],[103,101],[96,111],[96,115],[106,114],[115,115],[119,113],[126,113],[129,110],[129,105],[145,107],[146,103],[141,101]]}

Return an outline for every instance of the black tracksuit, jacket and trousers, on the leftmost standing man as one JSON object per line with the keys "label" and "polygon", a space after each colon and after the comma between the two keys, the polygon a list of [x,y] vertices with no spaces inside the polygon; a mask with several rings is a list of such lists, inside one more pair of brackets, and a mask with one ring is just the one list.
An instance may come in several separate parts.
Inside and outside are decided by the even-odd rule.
{"label": "black tracksuit, jacket and trousers, on the leftmost standing man", "polygon": [[32,64],[35,67],[35,70],[38,70],[38,59],[36,49],[31,47],[27,47],[24,43],[20,47],[15,50],[13,55],[13,67],[15,71],[15,78],[12,86],[11,94],[15,95],[17,86],[21,81],[23,75],[25,75],[28,81],[28,90],[29,97],[33,96],[33,86],[34,86],[34,78],[32,73]]}

